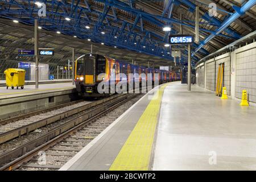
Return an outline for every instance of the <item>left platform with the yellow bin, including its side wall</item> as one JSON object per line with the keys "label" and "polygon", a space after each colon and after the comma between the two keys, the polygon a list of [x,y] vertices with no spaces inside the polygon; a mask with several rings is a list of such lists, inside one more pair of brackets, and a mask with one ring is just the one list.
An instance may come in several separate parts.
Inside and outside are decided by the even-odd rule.
{"label": "left platform with the yellow bin, including its side wall", "polygon": [[72,82],[25,85],[24,89],[6,89],[0,86],[0,119],[36,109],[63,104],[77,99]]}

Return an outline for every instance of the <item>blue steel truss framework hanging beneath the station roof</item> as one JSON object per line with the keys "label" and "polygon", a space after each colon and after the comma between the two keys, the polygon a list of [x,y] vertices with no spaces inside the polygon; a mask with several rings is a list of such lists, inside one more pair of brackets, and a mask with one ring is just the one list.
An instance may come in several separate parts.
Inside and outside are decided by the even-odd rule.
{"label": "blue steel truss framework hanging beneath the station roof", "polygon": [[[186,22],[183,20],[177,20],[171,17],[172,9],[174,5],[180,3],[189,6],[190,11],[195,11],[195,4],[188,0],[170,0],[168,5],[163,10],[162,16],[152,15],[133,7],[134,1],[129,3],[120,2],[117,0],[95,0],[98,3],[104,3],[103,10],[99,10],[98,7],[90,5],[88,1],[72,0],[72,1],[47,1],[43,0],[47,5],[47,17],[38,18],[38,7],[35,7],[35,1],[26,0],[23,3],[19,3],[15,0],[0,0],[4,2],[4,6],[1,7],[0,15],[5,18],[19,19],[24,24],[34,24],[34,19],[39,19],[39,24],[44,29],[49,31],[60,31],[64,35],[76,35],[80,39],[91,39],[92,42],[101,43],[104,42],[106,46],[117,46],[122,49],[129,49],[131,51],[143,52],[148,55],[163,57],[165,59],[173,60],[171,54],[168,53],[171,50],[165,48],[163,45],[167,43],[168,33],[164,37],[156,34],[155,32],[148,31],[143,28],[143,21],[155,24],[158,27],[164,27],[166,24],[172,23],[183,24],[183,26],[194,27],[193,22]],[[14,8],[15,7],[15,8]],[[116,10],[126,11],[128,14],[134,17],[134,22],[128,22],[125,19],[118,17]],[[167,18],[164,15],[168,11]],[[71,18],[70,21],[65,18]],[[208,14],[203,15],[203,19],[207,20],[209,24],[213,26],[221,26],[220,20],[216,18],[208,17]],[[140,24],[138,25],[138,22]],[[163,23],[165,22],[165,23]],[[89,25],[91,28],[85,28]],[[92,27],[93,26],[93,27]],[[200,28],[202,34],[207,33],[214,34],[214,31]],[[101,34],[104,31],[105,34]],[[226,32],[230,36],[218,34],[219,36],[226,36],[228,38],[238,39],[241,36],[230,28],[225,28]],[[177,31],[172,28],[169,34],[177,34]],[[118,38],[115,38],[118,36]],[[126,41],[125,41],[126,40]],[[134,44],[136,43],[136,44]],[[196,43],[192,44],[192,50],[198,48]],[[154,51],[152,51],[154,49]],[[209,52],[203,48],[198,49],[202,55],[208,55]],[[187,51],[183,50],[181,61],[186,61]],[[195,54],[195,52],[193,53]],[[192,57],[192,63],[195,64],[199,58],[195,55]]]}

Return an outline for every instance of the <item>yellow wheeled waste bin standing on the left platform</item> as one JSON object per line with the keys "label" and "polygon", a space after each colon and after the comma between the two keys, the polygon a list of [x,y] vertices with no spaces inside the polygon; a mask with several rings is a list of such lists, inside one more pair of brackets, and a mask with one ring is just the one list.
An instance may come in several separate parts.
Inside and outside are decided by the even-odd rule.
{"label": "yellow wheeled waste bin standing on the left platform", "polygon": [[6,88],[8,89],[9,86],[11,86],[11,89],[14,89],[14,86],[16,86],[17,89],[20,86],[21,89],[24,88],[25,84],[25,74],[26,71],[24,69],[18,69],[18,68],[9,68],[5,71],[5,77],[6,77]]}

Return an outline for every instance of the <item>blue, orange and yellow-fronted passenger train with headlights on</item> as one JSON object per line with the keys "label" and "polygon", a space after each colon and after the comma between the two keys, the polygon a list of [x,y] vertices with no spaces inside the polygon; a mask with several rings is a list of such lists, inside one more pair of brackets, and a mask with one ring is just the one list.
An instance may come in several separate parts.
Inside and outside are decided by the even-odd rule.
{"label": "blue, orange and yellow-fronted passenger train with headlights on", "polygon": [[[137,80],[129,79],[130,73],[137,73],[139,76]],[[145,77],[141,76],[143,75],[142,73],[144,73]],[[148,77],[148,73],[151,73],[152,76]],[[118,82],[122,81],[121,75],[126,76],[127,84],[129,84],[130,81],[138,81],[140,86],[143,80],[146,80],[147,82],[148,79],[152,81],[153,86],[156,78],[158,78],[159,84],[180,80],[179,72],[146,68],[139,65],[125,63],[124,61],[119,61],[97,53],[86,53],[75,61],[75,85],[80,96],[101,97],[103,95],[108,95],[108,93],[98,93],[97,86],[102,81],[113,81],[111,80],[113,76],[114,84],[117,85]]]}

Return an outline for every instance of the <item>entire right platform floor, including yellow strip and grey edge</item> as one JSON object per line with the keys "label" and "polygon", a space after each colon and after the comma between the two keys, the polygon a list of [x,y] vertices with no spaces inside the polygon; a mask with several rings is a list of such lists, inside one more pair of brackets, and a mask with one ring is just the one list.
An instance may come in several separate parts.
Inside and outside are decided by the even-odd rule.
{"label": "entire right platform floor, including yellow strip and grey edge", "polygon": [[[157,96],[157,97],[156,97]],[[172,82],[141,98],[60,170],[255,170],[256,107]]]}

